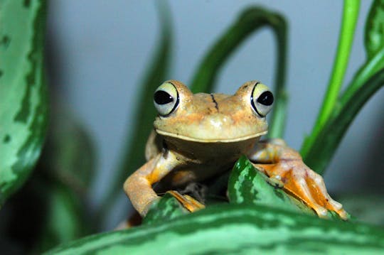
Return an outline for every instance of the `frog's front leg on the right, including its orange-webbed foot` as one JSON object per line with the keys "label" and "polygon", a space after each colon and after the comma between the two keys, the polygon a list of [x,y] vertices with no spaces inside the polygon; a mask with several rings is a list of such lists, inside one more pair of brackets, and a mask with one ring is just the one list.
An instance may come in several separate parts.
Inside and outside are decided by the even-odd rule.
{"label": "frog's front leg on the right, including its orange-webbed foot", "polygon": [[321,175],[306,166],[300,154],[289,148],[282,139],[261,141],[248,157],[255,167],[273,180],[281,181],[285,190],[305,202],[319,217],[326,217],[327,210],[332,210],[347,219],[342,205],[326,191]]}

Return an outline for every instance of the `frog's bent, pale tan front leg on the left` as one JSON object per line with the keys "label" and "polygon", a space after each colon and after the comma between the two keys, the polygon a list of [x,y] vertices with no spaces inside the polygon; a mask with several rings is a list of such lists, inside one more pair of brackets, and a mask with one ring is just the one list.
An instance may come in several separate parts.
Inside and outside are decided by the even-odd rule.
{"label": "frog's bent, pale tan front leg on the left", "polygon": [[159,182],[181,163],[174,153],[166,151],[151,158],[125,180],[124,191],[140,215],[145,216],[152,203],[160,198],[154,192],[152,184]]}

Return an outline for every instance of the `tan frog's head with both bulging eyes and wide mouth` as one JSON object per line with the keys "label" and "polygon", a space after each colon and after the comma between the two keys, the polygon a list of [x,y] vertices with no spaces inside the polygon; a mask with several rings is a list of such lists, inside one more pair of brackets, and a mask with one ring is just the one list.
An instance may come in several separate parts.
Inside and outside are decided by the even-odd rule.
{"label": "tan frog's head with both bulging eyes and wide mouth", "polygon": [[246,82],[232,96],[193,94],[186,85],[169,80],[154,92],[159,116],[156,132],[183,141],[230,143],[267,134],[265,116],[272,107],[270,89],[257,81]]}

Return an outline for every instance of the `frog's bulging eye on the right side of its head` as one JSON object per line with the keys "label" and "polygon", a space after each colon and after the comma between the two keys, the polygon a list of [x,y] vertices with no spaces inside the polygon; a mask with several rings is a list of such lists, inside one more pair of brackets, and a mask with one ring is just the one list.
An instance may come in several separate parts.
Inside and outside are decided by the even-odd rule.
{"label": "frog's bulging eye on the right side of its head", "polygon": [[270,89],[260,82],[256,82],[251,95],[252,108],[264,117],[270,112],[273,104],[273,94]]}

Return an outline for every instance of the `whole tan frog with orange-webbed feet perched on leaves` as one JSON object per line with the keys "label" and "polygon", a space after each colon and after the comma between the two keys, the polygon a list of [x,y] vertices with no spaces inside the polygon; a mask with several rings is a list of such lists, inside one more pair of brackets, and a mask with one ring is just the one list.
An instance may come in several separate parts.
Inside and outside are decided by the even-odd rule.
{"label": "whole tan frog with orange-webbed feet perched on leaves", "polygon": [[267,134],[266,116],[274,96],[262,82],[245,82],[233,95],[193,94],[182,82],[168,80],[154,92],[158,115],[146,143],[146,163],[129,175],[124,192],[144,217],[159,201],[154,185],[161,183],[190,212],[202,202],[176,188],[197,183],[230,169],[240,156],[310,207],[319,217],[328,211],[347,219],[333,200],[324,179],[303,162],[299,152],[282,139],[260,140]]}

